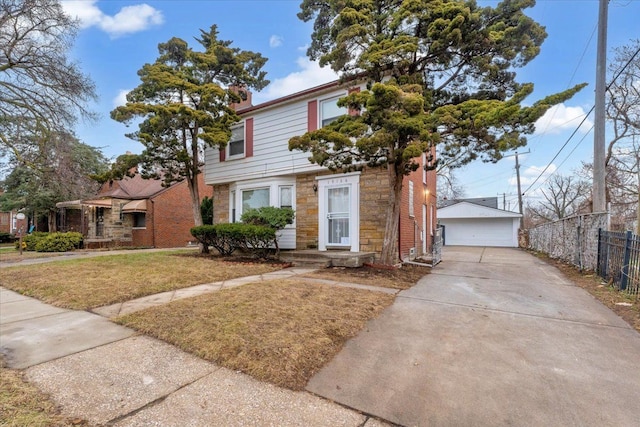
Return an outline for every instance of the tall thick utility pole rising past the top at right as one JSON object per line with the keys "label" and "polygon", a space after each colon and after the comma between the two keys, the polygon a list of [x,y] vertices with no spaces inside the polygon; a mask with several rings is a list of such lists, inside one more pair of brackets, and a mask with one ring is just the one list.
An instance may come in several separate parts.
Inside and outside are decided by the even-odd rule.
{"label": "tall thick utility pole rising past the top at right", "polygon": [[593,122],[593,212],[606,212],[605,195],[605,97],[607,78],[607,15],[609,0],[600,0],[598,52],[596,57],[596,99]]}

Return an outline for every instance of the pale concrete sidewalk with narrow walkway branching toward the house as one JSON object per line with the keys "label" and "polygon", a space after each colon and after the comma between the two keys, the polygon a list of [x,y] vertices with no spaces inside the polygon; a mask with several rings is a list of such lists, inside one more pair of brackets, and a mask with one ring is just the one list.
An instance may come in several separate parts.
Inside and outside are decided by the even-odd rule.
{"label": "pale concrete sidewalk with narrow walkway branching toward the house", "polygon": [[[228,281],[299,274],[287,269]],[[167,293],[148,305],[219,287]],[[135,311],[142,301],[106,310]],[[100,311],[100,310],[97,310]],[[49,393],[64,415],[114,426],[347,426],[388,424],[308,392],[294,392],[140,336],[105,317],[64,310],[0,288],[0,352]]]}

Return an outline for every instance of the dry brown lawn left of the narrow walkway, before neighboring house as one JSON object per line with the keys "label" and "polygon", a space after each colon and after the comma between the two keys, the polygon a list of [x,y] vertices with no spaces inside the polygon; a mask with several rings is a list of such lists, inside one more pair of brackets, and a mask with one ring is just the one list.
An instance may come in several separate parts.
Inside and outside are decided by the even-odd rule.
{"label": "dry brown lawn left of the narrow walkway, before neighboring house", "polygon": [[2,286],[86,310],[202,283],[263,274],[285,264],[237,263],[182,252],[145,252],[2,269]]}

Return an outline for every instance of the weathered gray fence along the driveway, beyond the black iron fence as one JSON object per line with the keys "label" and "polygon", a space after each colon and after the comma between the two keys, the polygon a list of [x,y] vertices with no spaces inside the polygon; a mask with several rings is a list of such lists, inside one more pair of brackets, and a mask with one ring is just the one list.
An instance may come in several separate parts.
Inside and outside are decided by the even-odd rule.
{"label": "weathered gray fence along the driveway, beyond the black iron fence", "polygon": [[598,262],[598,229],[608,229],[607,213],[585,214],[539,225],[529,230],[529,249],[595,270]]}

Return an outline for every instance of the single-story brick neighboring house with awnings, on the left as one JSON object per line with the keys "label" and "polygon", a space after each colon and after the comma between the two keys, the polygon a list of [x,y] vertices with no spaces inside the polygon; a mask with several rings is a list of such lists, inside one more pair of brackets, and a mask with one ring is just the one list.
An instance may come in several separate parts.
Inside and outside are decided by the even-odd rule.
{"label": "single-story brick neighboring house with awnings, on the left", "polygon": [[[212,196],[199,175],[200,196]],[[102,185],[88,200],[60,202],[58,230],[79,231],[87,248],[186,246],[194,241],[191,197],[186,181],[163,187],[139,174]]]}

